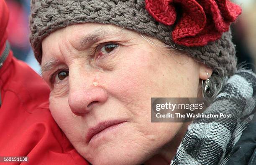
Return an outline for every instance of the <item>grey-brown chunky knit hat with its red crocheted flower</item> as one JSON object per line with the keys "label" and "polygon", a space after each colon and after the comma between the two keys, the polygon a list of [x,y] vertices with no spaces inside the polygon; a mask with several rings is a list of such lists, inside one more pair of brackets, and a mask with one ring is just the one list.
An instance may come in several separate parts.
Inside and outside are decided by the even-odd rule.
{"label": "grey-brown chunky knit hat with its red crocheted flower", "polygon": [[78,23],[118,25],[157,38],[195,57],[213,74],[236,72],[230,24],[241,8],[229,0],[31,0],[30,42],[41,63],[41,42]]}

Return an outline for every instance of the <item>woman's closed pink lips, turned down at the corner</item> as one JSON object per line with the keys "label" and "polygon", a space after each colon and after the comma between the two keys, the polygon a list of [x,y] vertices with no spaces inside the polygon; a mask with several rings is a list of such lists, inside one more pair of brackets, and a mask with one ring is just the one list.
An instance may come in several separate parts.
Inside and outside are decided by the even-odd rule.
{"label": "woman's closed pink lips, turned down at the corner", "polygon": [[87,143],[89,143],[91,141],[93,136],[97,135],[98,133],[105,130],[106,128],[112,127],[114,125],[121,124],[123,122],[125,122],[125,121],[123,121],[123,120],[122,121],[120,121],[120,120],[107,120],[107,121],[98,123],[95,127],[89,128],[88,133],[86,135]]}

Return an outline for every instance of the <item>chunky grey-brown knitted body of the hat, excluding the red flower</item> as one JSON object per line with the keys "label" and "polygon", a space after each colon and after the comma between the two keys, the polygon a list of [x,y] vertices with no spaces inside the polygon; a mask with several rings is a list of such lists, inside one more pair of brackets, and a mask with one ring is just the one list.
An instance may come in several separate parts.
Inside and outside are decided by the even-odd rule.
{"label": "chunky grey-brown knitted body of the hat, excluding the red flower", "polygon": [[[215,2],[216,0],[200,1]],[[166,2],[171,2],[171,0],[166,0]],[[220,0],[217,0],[217,2],[220,2]],[[228,4],[225,4],[224,6],[219,5],[222,13],[217,12],[216,14],[216,17],[226,15],[225,21],[227,25],[225,26],[225,30],[219,32],[218,36],[215,38],[212,38],[212,36],[209,35],[210,37],[208,38],[210,39],[203,42],[202,44],[205,45],[209,42],[207,45],[195,46],[196,44],[180,45],[181,43],[179,42],[178,44],[176,44],[175,40],[178,39],[173,40],[172,33],[175,33],[174,25],[176,24],[176,22],[179,22],[179,20],[173,20],[172,23],[174,23],[174,25],[172,26],[168,24],[165,25],[161,21],[155,19],[154,16],[151,15],[152,13],[146,10],[146,2],[144,0],[31,0],[31,46],[33,47],[36,59],[39,63],[41,63],[41,42],[51,32],[77,23],[112,24],[157,38],[167,45],[174,45],[180,51],[185,52],[192,57],[195,57],[197,60],[204,62],[207,66],[211,67],[214,70],[214,75],[230,76],[233,75],[234,72],[236,72],[236,51],[235,46],[231,42],[230,31],[224,31],[228,30],[230,22],[232,22],[235,17],[237,17],[239,12],[236,14],[232,14],[234,12],[228,12],[228,9],[225,7],[230,6],[231,2],[229,2],[228,0],[225,0],[225,2],[227,2]],[[189,5],[187,7],[189,7]],[[170,8],[174,7],[170,5]],[[215,6],[215,8],[218,8],[218,5]],[[186,11],[185,8],[181,8],[181,10]],[[208,9],[206,8],[206,10]],[[232,19],[232,16],[229,17],[228,15],[232,15],[234,19]],[[177,14],[177,18],[178,17],[181,17],[181,20],[184,20],[182,19],[182,15],[179,16]],[[210,20],[208,19],[206,21]],[[188,24],[184,23],[183,25],[186,28]],[[205,25],[208,25],[210,23],[211,22],[206,23]],[[218,23],[215,23],[215,25],[218,25]],[[187,29],[191,28],[187,27]],[[176,32],[178,31],[176,30]],[[195,32],[195,34],[197,34],[197,32]],[[178,36],[181,35],[179,34]]]}

